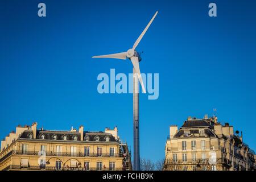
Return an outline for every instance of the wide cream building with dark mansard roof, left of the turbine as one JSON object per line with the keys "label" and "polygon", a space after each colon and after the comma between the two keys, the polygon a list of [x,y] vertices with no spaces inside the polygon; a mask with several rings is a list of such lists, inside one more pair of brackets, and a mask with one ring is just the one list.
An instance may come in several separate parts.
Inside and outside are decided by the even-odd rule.
{"label": "wide cream building with dark mansard roof, left of the turbine", "polygon": [[18,126],[1,142],[0,170],[131,170],[118,130],[55,131]]}

